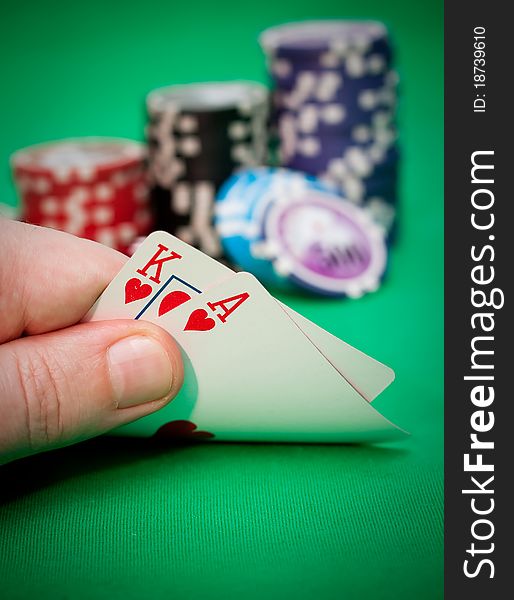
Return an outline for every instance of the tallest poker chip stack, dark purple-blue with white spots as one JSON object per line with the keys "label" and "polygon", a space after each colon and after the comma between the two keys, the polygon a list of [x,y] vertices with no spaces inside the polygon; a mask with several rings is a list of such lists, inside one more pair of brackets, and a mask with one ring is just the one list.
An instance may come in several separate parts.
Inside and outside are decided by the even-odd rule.
{"label": "tallest poker chip stack, dark purple-blue with white spots", "polygon": [[392,235],[397,74],[377,22],[314,21],[263,32],[279,164],[334,182]]}

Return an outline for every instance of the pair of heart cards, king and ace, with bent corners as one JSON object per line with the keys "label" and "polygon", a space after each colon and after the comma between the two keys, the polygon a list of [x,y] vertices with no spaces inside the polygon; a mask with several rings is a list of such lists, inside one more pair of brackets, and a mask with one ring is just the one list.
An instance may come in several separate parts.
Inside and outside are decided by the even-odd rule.
{"label": "pair of heart cards, king and ace, with bent corners", "polygon": [[184,386],[127,435],[248,442],[372,442],[405,435],[371,401],[385,365],[174,236],[152,233],[85,320],[145,319],[180,345]]}

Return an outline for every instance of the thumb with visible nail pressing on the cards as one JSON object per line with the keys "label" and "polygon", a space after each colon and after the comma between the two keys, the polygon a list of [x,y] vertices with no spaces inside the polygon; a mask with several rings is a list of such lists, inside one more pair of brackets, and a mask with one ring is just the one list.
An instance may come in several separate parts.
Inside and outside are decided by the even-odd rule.
{"label": "thumb with visible nail pressing on the cards", "polygon": [[176,395],[180,351],[142,321],[83,323],[0,346],[0,463],[148,415]]}

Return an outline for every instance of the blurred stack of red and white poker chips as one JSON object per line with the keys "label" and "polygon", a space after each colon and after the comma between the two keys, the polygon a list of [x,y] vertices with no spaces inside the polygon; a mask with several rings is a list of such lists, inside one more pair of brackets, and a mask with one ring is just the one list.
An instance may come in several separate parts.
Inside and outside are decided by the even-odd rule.
{"label": "blurred stack of red and white poker chips", "polygon": [[151,231],[145,147],[132,140],[79,138],[15,152],[11,166],[22,220],[127,253]]}

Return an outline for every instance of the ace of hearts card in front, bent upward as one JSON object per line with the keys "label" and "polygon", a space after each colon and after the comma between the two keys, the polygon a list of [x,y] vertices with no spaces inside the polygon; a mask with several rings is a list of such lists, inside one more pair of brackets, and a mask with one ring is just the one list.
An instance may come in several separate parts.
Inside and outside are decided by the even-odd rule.
{"label": "ace of hearts card in front, bent upward", "polygon": [[124,426],[122,433],[296,442],[403,435],[252,275],[233,275],[155,322],[180,345],[186,383],[168,406]]}

